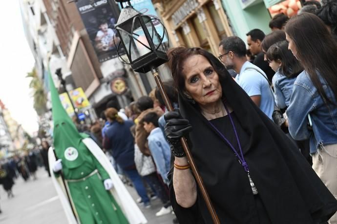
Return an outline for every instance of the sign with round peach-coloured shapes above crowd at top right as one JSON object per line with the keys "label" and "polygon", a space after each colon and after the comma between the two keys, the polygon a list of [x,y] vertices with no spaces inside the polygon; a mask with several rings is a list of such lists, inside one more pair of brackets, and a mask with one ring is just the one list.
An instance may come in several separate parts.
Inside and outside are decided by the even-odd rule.
{"label": "sign with round peach-coloured shapes above crowd at top right", "polygon": [[302,8],[302,4],[300,0],[285,0],[278,4],[272,4],[274,1],[269,0],[271,5],[267,5],[265,0],[266,7],[268,8],[272,17],[279,13],[283,13],[284,15],[288,16],[289,18],[292,16],[297,15],[298,10]]}

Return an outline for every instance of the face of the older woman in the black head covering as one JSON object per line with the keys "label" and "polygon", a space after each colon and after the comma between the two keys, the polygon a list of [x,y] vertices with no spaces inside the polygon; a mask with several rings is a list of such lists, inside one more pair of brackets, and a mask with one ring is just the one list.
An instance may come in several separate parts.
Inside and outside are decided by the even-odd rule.
{"label": "face of the older woman in the black head covering", "polygon": [[219,75],[211,63],[202,55],[187,58],[183,65],[185,91],[195,102],[208,105],[217,102],[222,96]]}

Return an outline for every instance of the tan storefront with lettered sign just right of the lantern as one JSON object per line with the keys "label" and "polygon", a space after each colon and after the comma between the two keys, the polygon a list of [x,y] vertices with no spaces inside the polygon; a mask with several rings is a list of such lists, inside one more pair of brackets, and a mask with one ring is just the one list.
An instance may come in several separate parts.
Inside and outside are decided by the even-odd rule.
{"label": "tan storefront with lettered sign just right of the lantern", "polygon": [[218,55],[232,28],[221,0],[152,0],[169,32],[172,47],[202,47]]}

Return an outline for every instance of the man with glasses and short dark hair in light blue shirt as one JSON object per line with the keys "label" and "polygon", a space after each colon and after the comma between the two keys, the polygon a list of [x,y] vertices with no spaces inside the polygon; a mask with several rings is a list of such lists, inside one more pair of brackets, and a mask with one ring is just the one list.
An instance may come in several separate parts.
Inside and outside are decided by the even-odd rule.
{"label": "man with glasses and short dark hair in light blue shirt", "polygon": [[274,111],[274,95],[267,75],[246,58],[246,45],[239,37],[226,37],[219,44],[219,59],[227,69],[238,73],[235,80],[253,102],[270,119]]}

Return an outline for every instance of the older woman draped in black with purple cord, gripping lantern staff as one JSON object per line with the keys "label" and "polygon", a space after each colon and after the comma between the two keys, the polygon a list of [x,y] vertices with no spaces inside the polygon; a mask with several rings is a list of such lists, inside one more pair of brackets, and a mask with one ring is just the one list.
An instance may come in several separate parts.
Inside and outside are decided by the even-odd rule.
{"label": "older woman draped in black with purple cord, gripping lantern staff", "polygon": [[211,216],[180,144],[188,138],[196,166],[223,224],[320,224],[337,201],[297,147],[264,115],[211,53],[169,52],[180,112],[168,112],[174,154],[170,197],[182,224]]}

